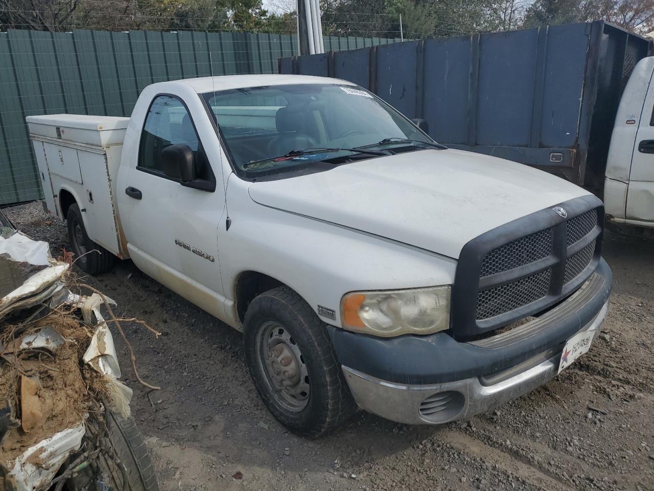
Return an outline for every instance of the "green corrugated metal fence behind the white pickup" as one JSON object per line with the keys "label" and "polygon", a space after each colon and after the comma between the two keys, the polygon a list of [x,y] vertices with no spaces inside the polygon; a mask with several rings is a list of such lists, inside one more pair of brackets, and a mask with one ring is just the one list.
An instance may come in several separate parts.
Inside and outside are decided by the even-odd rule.
{"label": "green corrugated metal fence behind the white pickup", "polygon": [[[326,51],[399,39],[324,38]],[[204,31],[0,33],[0,205],[43,198],[25,117],[128,116],[148,84],[235,73],[277,73],[294,35]],[[211,54],[211,56],[210,56]]]}

